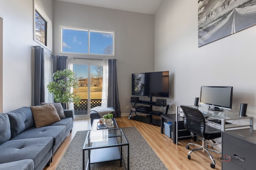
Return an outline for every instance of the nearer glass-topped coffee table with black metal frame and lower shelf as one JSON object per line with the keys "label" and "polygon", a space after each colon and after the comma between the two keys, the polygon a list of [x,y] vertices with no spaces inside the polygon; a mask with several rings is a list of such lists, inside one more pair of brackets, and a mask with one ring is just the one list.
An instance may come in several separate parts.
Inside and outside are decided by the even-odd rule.
{"label": "nearer glass-topped coffee table with black metal frame and lower shelf", "polygon": [[[127,167],[122,154],[122,147],[127,146]],[[85,150],[88,150],[86,169],[97,162],[120,160],[124,169],[129,170],[129,143],[122,129],[102,129],[88,131],[83,147],[83,170],[85,169]]]}

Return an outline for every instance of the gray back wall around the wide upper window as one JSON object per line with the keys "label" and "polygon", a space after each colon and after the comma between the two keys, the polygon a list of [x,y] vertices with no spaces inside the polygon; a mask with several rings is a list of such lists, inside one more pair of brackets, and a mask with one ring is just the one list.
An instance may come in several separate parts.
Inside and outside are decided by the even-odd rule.
{"label": "gray back wall around the wide upper window", "polygon": [[53,9],[54,55],[65,55],[59,54],[59,25],[116,31],[116,57],[108,58],[117,59],[121,112],[129,113],[132,73],[154,71],[154,16],[60,1]]}

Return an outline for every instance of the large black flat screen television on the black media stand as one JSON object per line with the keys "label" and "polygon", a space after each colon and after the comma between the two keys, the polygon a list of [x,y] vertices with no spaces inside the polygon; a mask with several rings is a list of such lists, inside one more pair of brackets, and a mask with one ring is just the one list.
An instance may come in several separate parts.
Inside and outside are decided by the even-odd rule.
{"label": "large black flat screen television on the black media stand", "polygon": [[132,74],[132,95],[169,97],[169,71]]}

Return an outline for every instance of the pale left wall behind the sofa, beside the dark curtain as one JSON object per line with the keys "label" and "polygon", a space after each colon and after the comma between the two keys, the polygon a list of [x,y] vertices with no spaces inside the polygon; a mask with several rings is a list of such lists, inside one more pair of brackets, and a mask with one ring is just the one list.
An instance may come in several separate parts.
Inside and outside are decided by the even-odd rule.
{"label": "pale left wall behind the sofa, beside the dark curtain", "polygon": [[[47,2],[52,3],[52,0]],[[31,106],[32,103],[32,47],[38,45],[33,40],[33,4],[33,0],[4,0],[0,5],[0,17],[3,19],[2,112]],[[48,7],[52,11],[52,5]]]}

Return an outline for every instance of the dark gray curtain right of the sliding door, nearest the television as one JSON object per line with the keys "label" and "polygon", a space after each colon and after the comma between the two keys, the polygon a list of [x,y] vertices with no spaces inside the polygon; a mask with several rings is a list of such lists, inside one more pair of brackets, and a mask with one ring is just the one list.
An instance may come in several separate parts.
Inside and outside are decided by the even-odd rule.
{"label": "dark gray curtain right of the sliding door, nearest the television", "polygon": [[108,60],[108,107],[114,107],[115,117],[121,117],[121,109],[118,97],[116,59]]}

